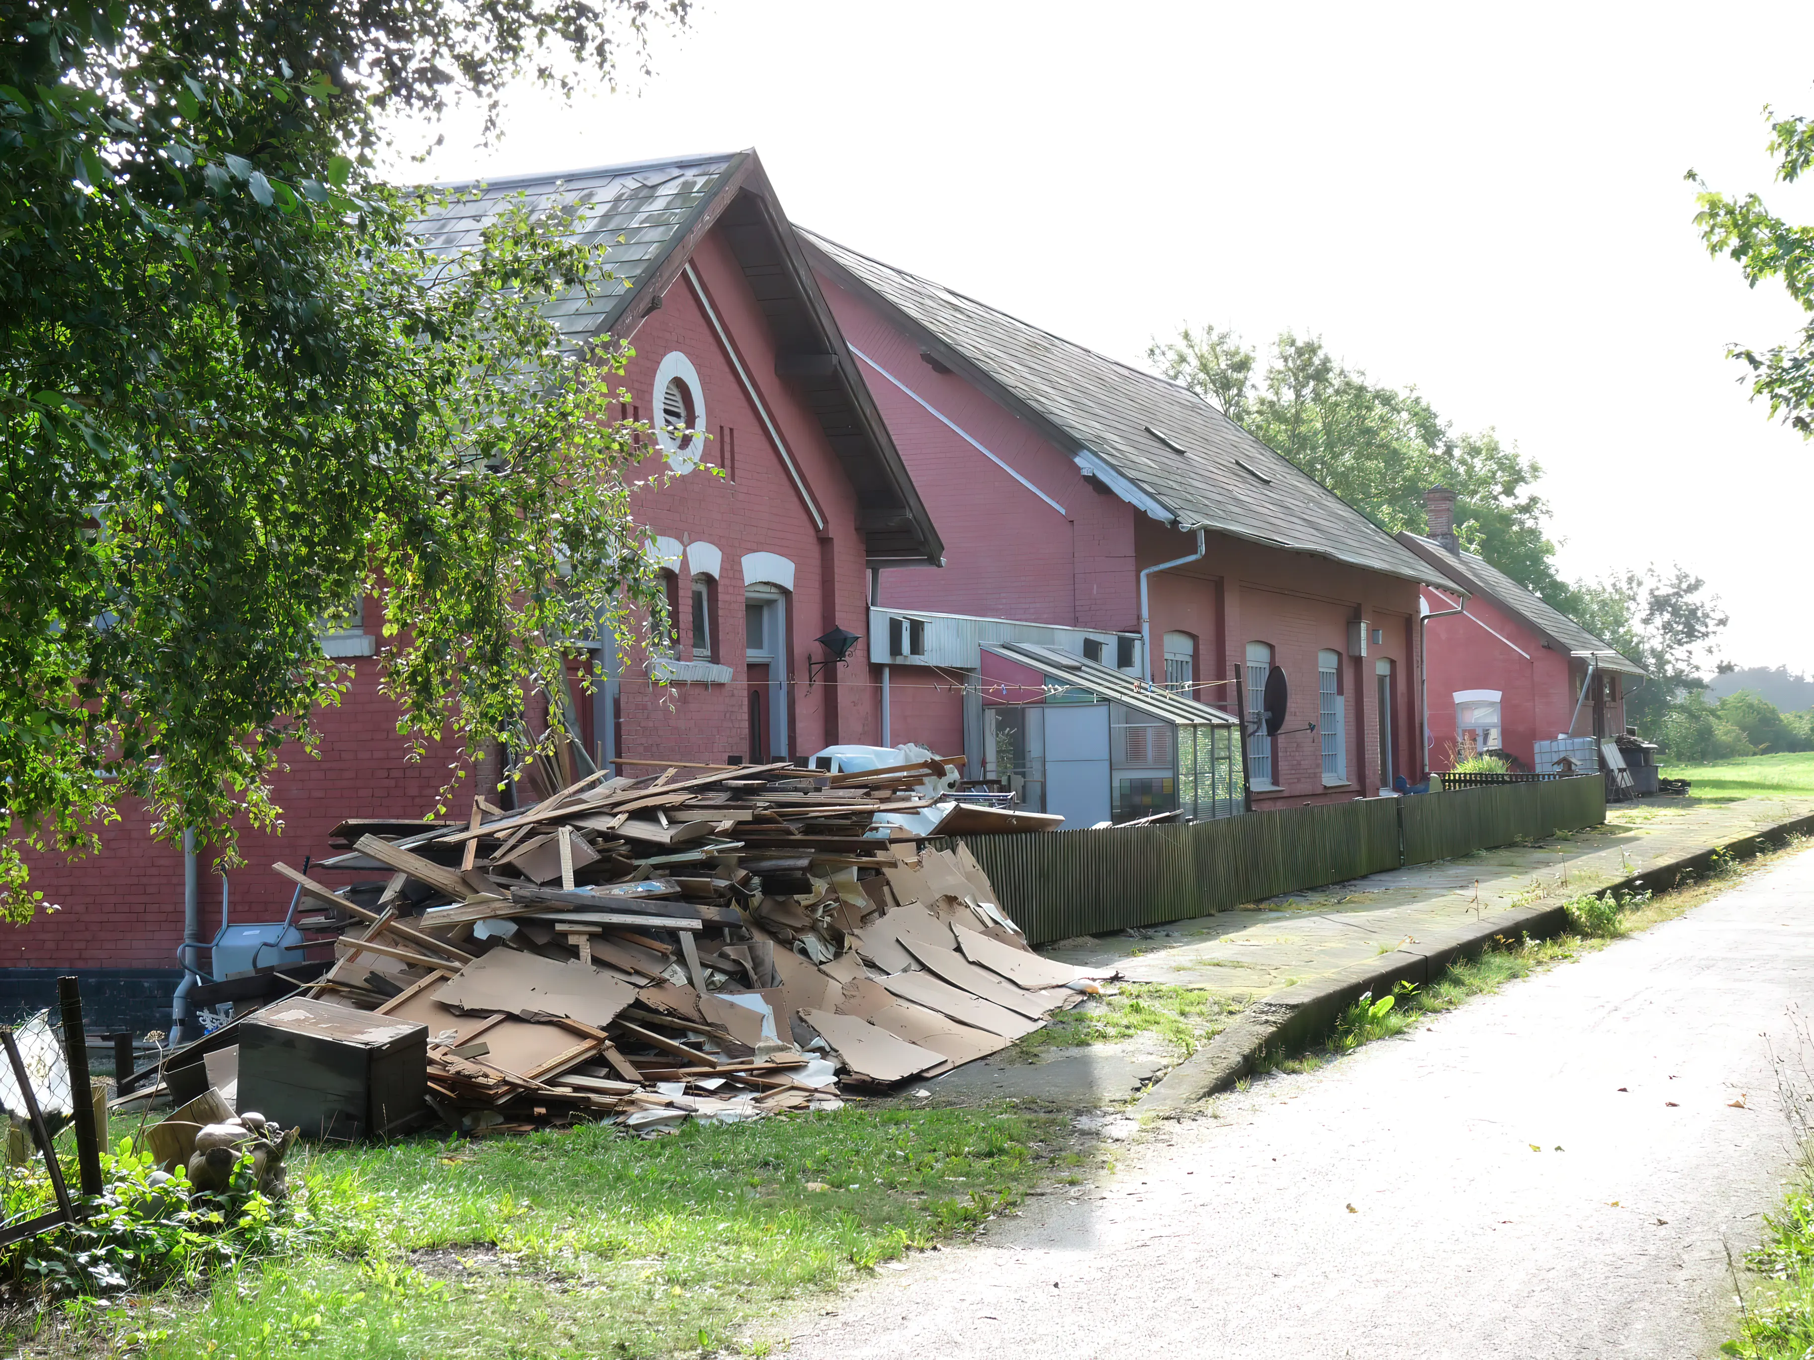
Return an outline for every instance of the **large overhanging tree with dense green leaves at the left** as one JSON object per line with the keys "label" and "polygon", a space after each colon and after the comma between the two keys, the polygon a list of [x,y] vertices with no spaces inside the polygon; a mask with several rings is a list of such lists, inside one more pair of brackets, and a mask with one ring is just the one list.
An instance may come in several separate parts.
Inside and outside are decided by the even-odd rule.
{"label": "large overhanging tree with dense green leaves at the left", "polygon": [[368,591],[399,733],[548,747],[570,640],[657,598],[620,357],[539,310],[608,261],[521,209],[439,257],[372,167],[686,9],[0,0],[0,912],[123,796],[229,856],[272,825],[346,684],[321,622]]}

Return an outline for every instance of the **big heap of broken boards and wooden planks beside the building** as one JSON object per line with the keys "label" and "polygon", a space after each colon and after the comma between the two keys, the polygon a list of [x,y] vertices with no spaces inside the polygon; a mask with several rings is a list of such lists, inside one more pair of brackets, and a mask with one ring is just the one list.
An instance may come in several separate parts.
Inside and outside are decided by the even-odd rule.
{"label": "big heap of broken boards and wooden planks beside the building", "polygon": [[[464,825],[343,823],[350,852],[321,878],[276,865],[319,910],[305,925],[332,936],[334,967],[232,1028],[327,1034],[327,1012],[352,1008],[390,1026],[336,1032],[403,1052],[397,1026],[415,1043],[423,1026],[421,1113],[473,1135],[577,1119],[653,1133],[834,1110],[847,1088],[936,1075],[1099,990],[1032,954],[969,850],[891,825],[929,807],[943,774],[936,760],[675,765],[599,774],[526,811],[475,800]],[[241,1093],[258,1083],[267,1110],[285,1099],[272,1083],[305,1081],[285,1043],[261,1043],[252,1072],[241,1041]],[[316,1063],[336,1075],[307,1081],[345,1092],[366,1061]],[[348,1108],[394,1128],[379,1106],[368,1092]]]}

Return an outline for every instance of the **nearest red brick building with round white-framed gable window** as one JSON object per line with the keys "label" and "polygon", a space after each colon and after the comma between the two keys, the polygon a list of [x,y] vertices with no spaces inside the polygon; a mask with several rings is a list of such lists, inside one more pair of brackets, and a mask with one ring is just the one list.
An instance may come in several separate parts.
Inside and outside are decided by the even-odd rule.
{"label": "nearest red brick building with round white-framed gable window", "polygon": [[[619,241],[617,279],[553,312],[575,341],[610,335],[635,348],[624,415],[660,428],[642,471],[677,473],[633,499],[668,577],[677,647],[620,658],[595,646],[595,695],[571,689],[582,736],[573,762],[584,771],[619,756],[782,758],[876,742],[867,638],[847,667],[809,682],[807,662],[824,658],[814,638],[833,627],[867,633],[869,573],[936,566],[943,548],[755,152],[473,190],[424,225],[432,245],[461,250],[517,194],[533,209],[571,205],[577,232]],[[297,753],[276,780],[283,834],[243,836],[249,863],[225,876],[234,921],[283,916],[290,894],[272,860],[328,854],[327,832],[343,818],[432,814],[455,772],[452,749],[405,762],[397,711],[377,693],[375,662],[363,660],[379,624],[366,602],[363,620],[325,638],[356,680],[319,714],[319,758]],[[497,772],[490,753],[484,783]],[[461,812],[472,792],[466,778]],[[34,887],[62,910],[9,928],[0,1003],[36,997],[54,972],[76,968],[102,1015],[143,1015],[158,999],[169,1010],[185,854],[151,836],[143,809],[122,814],[102,831],[98,858],[34,865]],[[205,850],[198,860],[196,937],[207,941],[221,921],[221,878]]]}

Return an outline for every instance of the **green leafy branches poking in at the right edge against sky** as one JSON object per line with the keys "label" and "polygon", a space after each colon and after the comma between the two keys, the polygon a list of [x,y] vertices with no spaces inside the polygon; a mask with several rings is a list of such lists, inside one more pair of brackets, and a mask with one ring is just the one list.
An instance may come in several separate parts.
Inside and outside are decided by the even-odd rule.
{"label": "green leafy branches poking in at the right edge against sky", "polygon": [[[1814,120],[1801,116],[1778,118],[1765,107],[1770,120],[1770,156],[1776,158],[1776,178],[1792,185],[1814,167]],[[1689,181],[1700,187],[1696,196],[1702,243],[1712,256],[1729,256],[1738,263],[1745,283],[1778,279],[1809,323],[1792,345],[1772,345],[1758,350],[1734,345],[1727,354],[1751,370],[1751,393],[1770,404],[1770,417],[1787,421],[1814,437],[1814,227],[1796,227],[1770,210],[1758,194],[1727,196],[1689,170]]]}

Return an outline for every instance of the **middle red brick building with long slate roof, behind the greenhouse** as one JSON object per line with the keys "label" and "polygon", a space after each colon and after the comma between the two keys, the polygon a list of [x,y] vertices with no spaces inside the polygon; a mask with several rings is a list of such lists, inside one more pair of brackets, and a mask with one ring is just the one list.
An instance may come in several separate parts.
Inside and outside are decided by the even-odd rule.
{"label": "middle red brick building with long slate roof, behind the greenhouse", "polygon": [[[961,738],[972,772],[1038,785],[974,695],[987,642],[1036,642],[1219,709],[1239,693],[1255,809],[1422,776],[1419,588],[1442,573],[1185,388],[804,239],[947,539],[945,569],[885,571],[871,615],[876,647],[905,646],[883,658],[894,740]],[[1116,789],[1123,767],[1150,785],[1150,742],[1134,756],[1103,754]]]}

